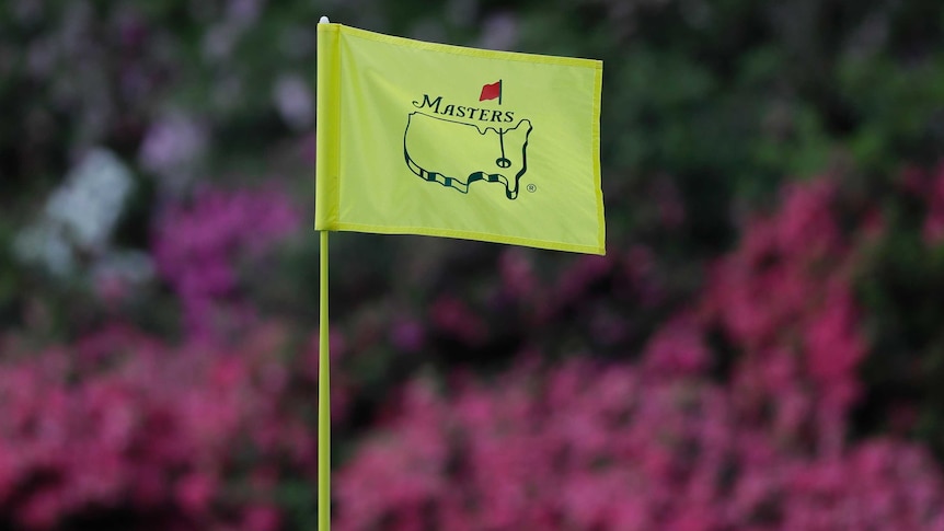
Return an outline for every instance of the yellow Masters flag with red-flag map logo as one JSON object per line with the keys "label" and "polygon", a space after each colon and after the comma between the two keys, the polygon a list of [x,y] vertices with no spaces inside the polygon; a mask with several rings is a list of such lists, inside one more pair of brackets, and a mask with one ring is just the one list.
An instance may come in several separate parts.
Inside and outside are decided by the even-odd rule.
{"label": "yellow Masters flag with red-flag map logo", "polygon": [[315,229],[605,254],[601,79],[319,24]]}

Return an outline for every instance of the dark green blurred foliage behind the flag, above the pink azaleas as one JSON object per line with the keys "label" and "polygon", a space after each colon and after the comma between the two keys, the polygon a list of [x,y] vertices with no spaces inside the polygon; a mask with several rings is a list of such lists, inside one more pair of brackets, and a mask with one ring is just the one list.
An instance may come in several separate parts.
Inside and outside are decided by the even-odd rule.
{"label": "dark green blurred foliage behind the flag, above the pink azaleas", "polygon": [[[117,315],[180,333],[180,303],[160,277],[113,308],[89,278],[53,279],[12,252],[91,147],[114,151],[135,174],[113,242],[125,249],[149,250],[161,208],[209,183],[275,183],[310,219],[312,154],[302,153],[313,124],[286,119],[275,92],[291,78],[313,93],[314,27],[327,14],[407,37],[605,62],[610,256],[515,255],[548,299],[563,298],[575,278],[585,282],[565,304],[504,299],[498,277],[511,253],[503,246],[332,236],[332,320],[357,353],[343,361],[358,390],[352,432],[417,371],[487,371],[522,346],[553,358],[633,356],[702,288],[704,268],[734,245],[746,212],[788,180],[834,172],[860,204],[879,205],[888,224],[859,264],[872,339],[861,430],[890,428],[883,423],[891,409],[913,407],[914,434],[944,454],[944,309],[929,297],[944,292],[944,251],[920,236],[924,207],[896,184],[902,166],[928,168],[944,154],[944,3],[279,0],[241,14],[237,3],[254,4],[0,2],[0,327],[48,342]],[[146,138],[168,115],[207,138],[180,189],[142,163]],[[319,251],[302,224],[276,258],[240,269],[238,295],[266,318],[311,331]],[[654,293],[629,280],[641,263]],[[456,300],[484,316],[481,343],[460,345],[442,331],[422,337],[419,350],[391,339],[398,323],[427,324],[437,303]],[[601,328],[622,332],[607,338]],[[310,485],[283,485],[277,495],[307,528]]]}

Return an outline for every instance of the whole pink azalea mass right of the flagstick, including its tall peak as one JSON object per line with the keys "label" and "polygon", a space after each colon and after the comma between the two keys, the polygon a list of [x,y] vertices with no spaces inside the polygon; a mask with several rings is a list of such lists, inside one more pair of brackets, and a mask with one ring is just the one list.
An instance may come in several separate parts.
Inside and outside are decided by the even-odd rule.
{"label": "whole pink azalea mass right of the flagstick, including its tall peak", "polygon": [[786,188],[637,362],[413,380],[338,472],[335,527],[944,530],[922,447],[848,440],[867,344],[836,201]]}

